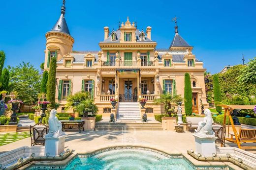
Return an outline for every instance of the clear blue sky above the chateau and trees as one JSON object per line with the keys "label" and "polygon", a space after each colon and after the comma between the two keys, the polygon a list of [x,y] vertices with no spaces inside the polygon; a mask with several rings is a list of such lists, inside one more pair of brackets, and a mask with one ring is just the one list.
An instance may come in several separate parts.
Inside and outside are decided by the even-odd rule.
{"label": "clear blue sky above the chateau and trees", "polygon": [[[246,3],[245,3],[246,2]],[[125,4],[125,7],[123,6]],[[44,61],[45,33],[60,17],[62,0],[1,0],[0,50],[5,66],[22,61],[37,68]],[[208,72],[246,62],[256,56],[256,0],[66,0],[66,21],[75,39],[73,50],[99,50],[104,26],[137,21],[152,26],[157,48],[168,48],[176,15],[180,35]]]}

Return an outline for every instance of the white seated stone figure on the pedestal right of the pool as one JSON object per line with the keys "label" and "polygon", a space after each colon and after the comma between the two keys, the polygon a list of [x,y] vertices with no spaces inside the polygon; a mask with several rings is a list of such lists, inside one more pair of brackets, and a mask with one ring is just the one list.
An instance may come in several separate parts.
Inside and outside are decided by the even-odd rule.
{"label": "white seated stone figure on the pedestal right of the pool", "polygon": [[209,109],[205,109],[204,111],[204,119],[203,121],[199,121],[197,129],[195,129],[195,133],[201,133],[204,135],[213,135],[214,132],[212,130],[212,113]]}

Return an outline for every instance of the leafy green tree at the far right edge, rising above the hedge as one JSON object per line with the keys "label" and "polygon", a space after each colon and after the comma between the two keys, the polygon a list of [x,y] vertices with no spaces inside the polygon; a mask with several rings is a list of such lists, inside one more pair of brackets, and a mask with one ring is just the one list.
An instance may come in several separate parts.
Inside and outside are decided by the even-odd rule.
{"label": "leafy green tree at the far right edge, rising above the hedge", "polygon": [[256,86],[256,57],[247,63],[247,66],[242,69],[239,76],[240,83],[254,84]]}

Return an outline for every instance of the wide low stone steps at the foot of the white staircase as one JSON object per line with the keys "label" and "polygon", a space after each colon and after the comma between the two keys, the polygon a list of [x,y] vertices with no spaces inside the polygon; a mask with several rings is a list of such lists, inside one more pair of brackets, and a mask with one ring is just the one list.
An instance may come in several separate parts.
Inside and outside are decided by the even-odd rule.
{"label": "wide low stone steps at the foot of the white staircase", "polygon": [[159,122],[96,122],[95,130],[162,130]]}

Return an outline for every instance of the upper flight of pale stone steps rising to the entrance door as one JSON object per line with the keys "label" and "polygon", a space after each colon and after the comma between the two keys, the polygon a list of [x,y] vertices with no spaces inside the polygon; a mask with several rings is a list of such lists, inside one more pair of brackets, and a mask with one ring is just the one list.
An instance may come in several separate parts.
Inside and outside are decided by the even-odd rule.
{"label": "upper flight of pale stone steps rising to the entrance door", "polygon": [[119,102],[117,108],[117,120],[140,120],[138,102]]}

